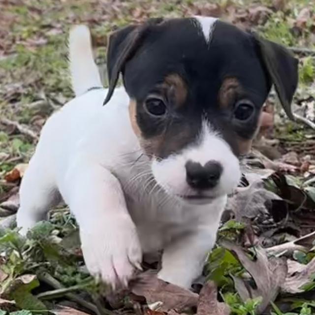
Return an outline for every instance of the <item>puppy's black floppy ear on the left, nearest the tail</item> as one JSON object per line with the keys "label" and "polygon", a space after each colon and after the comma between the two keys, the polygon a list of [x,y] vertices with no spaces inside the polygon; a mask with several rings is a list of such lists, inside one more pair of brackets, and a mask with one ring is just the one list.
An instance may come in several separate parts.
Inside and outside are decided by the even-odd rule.
{"label": "puppy's black floppy ear on the left, nearest the tail", "polygon": [[149,26],[162,22],[161,18],[149,19],[142,25],[130,25],[109,36],[107,50],[108,93],[104,100],[106,104],[112,97],[119,74],[124,70],[126,62],[132,58],[141,45]]}

